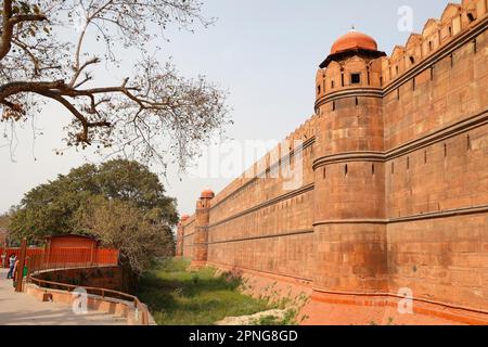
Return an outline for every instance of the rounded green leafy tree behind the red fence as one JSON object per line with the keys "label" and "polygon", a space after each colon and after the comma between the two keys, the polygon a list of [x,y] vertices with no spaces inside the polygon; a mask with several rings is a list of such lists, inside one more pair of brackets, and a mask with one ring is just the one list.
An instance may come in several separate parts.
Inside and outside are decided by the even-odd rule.
{"label": "rounded green leafy tree behind the red fence", "polygon": [[[119,218],[124,210],[127,219]],[[114,224],[117,219],[120,224]],[[125,235],[126,242],[160,233],[154,236],[155,247],[167,250],[172,241],[170,245],[158,242],[172,240],[171,228],[177,222],[176,202],[165,195],[157,175],[137,162],[115,159],[100,166],[84,165],[29,191],[13,208],[10,230],[13,239],[25,236],[37,243],[48,235],[89,234],[114,247],[121,246],[116,232]],[[136,234],[127,237],[130,231]],[[142,247],[141,253],[146,249],[150,257],[157,255],[145,241],[130,246]],[[130,250],[125,256],[132,259],[132,255]]]}

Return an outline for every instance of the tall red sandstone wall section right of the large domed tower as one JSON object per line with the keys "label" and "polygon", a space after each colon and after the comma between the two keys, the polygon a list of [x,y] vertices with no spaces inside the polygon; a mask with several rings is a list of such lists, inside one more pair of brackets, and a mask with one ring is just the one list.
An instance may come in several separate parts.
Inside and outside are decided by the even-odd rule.
{"label": "tall red sandstone wall section right of the large domed tower", "polygon": [[[446,25],[446,14],[459,18],[458,11],[448,7]],[[487,40],[485,30],[476,46],[445,46],[444,56],[384,98],[391,293],[409,287],[419,297],[488,308]]]}

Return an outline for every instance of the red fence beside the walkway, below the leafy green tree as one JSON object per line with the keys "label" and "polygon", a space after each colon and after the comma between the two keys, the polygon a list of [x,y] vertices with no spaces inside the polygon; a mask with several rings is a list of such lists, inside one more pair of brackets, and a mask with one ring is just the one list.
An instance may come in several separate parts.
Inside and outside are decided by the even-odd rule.
{"label": "red fence beside the walkway, below the leafy green tree", "polygon": [[[9,258],[13,253],[18,257],[21,248],[0,248],[0,254],[5,255],[4,267],[9,267]],[[44,253],[43,248],[27,248],[26,260],[29,272],[43,269],[117,266],[118,250],[108,248],[59,248]]]}

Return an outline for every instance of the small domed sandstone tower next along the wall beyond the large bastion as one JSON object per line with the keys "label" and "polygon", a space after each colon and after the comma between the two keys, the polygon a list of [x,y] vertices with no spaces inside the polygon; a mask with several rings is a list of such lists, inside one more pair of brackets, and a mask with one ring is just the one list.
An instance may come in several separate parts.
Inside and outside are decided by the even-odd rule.
{"label": "small domed sandstone tower next along the wall beyond the large bastion", "polygon": [[210,220],[210,203],[215,197],[211,190],[202,192],[196,202],[195,235],[193,241],[192,267],[204,267],[208,255],[208,223]]}

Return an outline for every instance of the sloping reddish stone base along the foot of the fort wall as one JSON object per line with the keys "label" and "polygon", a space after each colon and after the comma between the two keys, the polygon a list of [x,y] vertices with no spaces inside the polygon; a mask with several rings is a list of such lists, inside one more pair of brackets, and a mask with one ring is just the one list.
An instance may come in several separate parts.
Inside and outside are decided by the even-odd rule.
{"label": "sloping reddish stone base along the foot of the fort wall", "polygon": [[342,294],[313,290],[312,282],[273,273],[207,262],[243,279],[244,294],[271,301],[287,300],[298,308],[301,325],[488,325],[488,314],[418,299],[412,313],[400,313],[402,298],[390,294]]}

